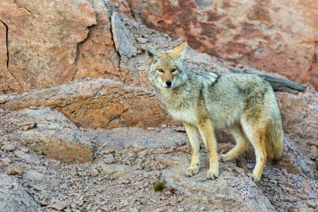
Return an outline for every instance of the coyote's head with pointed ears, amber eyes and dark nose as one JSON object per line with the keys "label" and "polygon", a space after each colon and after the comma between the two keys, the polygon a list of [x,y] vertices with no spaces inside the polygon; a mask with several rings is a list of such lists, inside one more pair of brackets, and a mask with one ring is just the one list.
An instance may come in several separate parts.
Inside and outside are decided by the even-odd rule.
{"label": "coyote's head with pointed ears, amber eyes and dark nose", "polygon": [[148,45],[146,54],[150,63],[149,81],[157,88],[176,88],[187,81],[184,54],[187,42],[167,52],[158,52]]}

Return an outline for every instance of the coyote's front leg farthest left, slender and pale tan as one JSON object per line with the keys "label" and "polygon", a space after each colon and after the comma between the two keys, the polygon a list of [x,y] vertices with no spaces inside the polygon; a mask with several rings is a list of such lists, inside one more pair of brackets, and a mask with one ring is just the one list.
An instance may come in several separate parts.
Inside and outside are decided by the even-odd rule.
{"label": "coyote's front leg farthest left, slender and pale tan", "polygon": [[193,175],[196,175],[199,171],[200,167],[200,155],[199,155],[199,132],[196,126],[192,124],[182,123],[184,126],[184,129],[187,131],[187,136],[189,139],[189,143],[191,146],[191,152],[192,152],[192,160],[190,167],[187,168],[186,176],[192,177]]}

